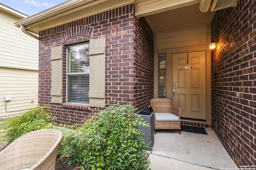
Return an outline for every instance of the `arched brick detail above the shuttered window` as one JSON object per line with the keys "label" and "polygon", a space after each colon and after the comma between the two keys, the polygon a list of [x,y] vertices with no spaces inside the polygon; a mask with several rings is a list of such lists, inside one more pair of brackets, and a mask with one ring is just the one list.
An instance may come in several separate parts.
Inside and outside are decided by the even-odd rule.
{"label": "arched brick detail above the shuttered window", "polygon": [[92,30],[93,28],[88,26],[76,26],[70,28],[62,33],[61,43],[64,45],[90,40],[92,36]]}

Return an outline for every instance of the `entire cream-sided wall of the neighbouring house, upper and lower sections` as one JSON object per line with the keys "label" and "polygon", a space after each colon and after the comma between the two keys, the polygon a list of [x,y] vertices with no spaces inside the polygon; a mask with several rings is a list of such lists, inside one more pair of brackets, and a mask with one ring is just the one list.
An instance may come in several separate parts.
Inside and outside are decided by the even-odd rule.
{"label": "entire cream-sided wall of the neighbouring house, upper and lower sections", "polygon": [[38,105],[38,40],[14,25],[23,18],[0,4],[0,118]]}

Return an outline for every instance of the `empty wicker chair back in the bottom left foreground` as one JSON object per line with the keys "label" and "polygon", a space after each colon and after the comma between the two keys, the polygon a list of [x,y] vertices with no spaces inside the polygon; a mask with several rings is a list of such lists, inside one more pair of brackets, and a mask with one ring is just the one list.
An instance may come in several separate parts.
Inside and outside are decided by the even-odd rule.
{"label": "empty wicker chair back in the bottom left foreground", "polygon": [[28,132],[0,152],[0,170],[55,170],[62,133],[54,129]]}

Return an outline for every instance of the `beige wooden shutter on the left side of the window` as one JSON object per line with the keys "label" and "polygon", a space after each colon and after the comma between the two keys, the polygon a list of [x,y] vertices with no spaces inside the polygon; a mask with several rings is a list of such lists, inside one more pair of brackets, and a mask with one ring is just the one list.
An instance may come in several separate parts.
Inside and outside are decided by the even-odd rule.
{"label": "beige wooden shutter on the left side of the window", "polygon": [[62,103],[62,46],[52,47],[52,103]]}

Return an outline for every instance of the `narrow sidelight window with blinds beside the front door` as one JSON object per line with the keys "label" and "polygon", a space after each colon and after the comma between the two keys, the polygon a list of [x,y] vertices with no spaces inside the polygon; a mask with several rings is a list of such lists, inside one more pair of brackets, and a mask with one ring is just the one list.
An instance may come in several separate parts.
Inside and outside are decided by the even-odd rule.
{"label": "narrow sidelight window with blinds beside the front door", "polygon": [[166,54],[158,55],[158,97],[166,98]]}

